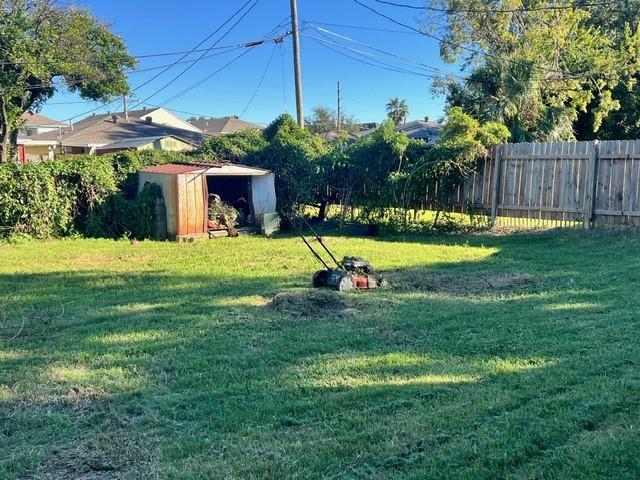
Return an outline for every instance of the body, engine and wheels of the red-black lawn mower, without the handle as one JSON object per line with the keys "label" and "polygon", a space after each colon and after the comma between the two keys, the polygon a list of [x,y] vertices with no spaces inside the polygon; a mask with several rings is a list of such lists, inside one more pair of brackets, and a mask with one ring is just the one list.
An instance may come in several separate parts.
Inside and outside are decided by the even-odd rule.
{"label": "body, engine and wheels of the red-black lawn mower, without the handle", "polygon": [[313,286],[328,287],[339,292],[354,288],[367,290],[386,287],[387,281],[373,273],[373,266],[368,260],[359,257],[344,257],[338,262],[338,268],[318,270],[313,275]]}

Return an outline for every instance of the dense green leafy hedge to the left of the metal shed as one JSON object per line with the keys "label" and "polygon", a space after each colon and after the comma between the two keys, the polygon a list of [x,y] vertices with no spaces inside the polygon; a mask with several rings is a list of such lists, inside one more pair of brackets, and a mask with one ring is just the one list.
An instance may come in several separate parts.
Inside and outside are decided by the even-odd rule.
{"label": "dense green leafy hedge to the left of the metal shed", "polygon": [[138,194],[138,170],[189,159],[148,150],[0,164],[0,235],[146,238],[158,191]]}

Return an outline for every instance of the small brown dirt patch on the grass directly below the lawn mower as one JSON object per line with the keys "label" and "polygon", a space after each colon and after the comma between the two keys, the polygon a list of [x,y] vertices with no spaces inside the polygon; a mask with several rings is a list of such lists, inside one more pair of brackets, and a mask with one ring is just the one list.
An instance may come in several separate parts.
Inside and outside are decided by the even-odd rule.
{"label": "small brown dirt patch on the grass directly below the lawn mower", "polygon": [[264,306],[298,316],[321,315],[326,312],[344,315],[359,313],[349,296],[322,289],[278,293]]}

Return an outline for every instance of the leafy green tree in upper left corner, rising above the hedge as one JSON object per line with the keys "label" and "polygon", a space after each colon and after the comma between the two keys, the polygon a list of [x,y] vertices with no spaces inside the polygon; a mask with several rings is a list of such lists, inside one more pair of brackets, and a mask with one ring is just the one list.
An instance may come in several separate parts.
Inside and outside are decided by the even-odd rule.
{"label": "leafy green tree in upper left corner, rising above the hedge", "polygon": [[88,11],[55,0],[0,0],[0,161],[15,149],[21,116],[58,89],[90,100],[129,93],[136,65],[122,38]]}

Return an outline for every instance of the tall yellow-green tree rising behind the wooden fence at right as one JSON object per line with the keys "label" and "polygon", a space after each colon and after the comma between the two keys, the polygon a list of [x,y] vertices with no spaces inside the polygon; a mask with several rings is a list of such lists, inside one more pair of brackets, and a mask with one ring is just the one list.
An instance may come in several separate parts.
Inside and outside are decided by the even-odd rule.
{"label": "tall yellow-green tree rising behind the wooden fence at right", "polygon": [[462,80],[446,78],[436,87],[443,87],[449,106],[505,123],[514,141],[573,139],[587,112],[586,128],[598,132],[621,107],[614,92],[629,91],[640,70],[637,9],[611,22],[599,20],[611,9],[581,8],[580,2],[526,2],[531,8],[519,0],[432,3],[445,10],[442,58],[465,67]]}

